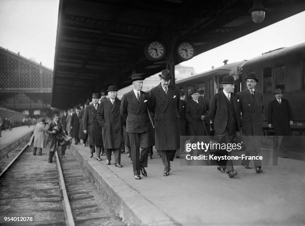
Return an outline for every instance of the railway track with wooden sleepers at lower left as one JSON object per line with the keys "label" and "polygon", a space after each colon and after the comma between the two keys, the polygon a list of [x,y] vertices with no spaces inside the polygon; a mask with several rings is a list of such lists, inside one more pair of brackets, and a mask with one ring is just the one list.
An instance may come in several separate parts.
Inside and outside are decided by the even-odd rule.
{"label": "railway track with wooden sleepers at lower left", "polygon": [[68,150],[56,164],[43,152],[22,143],[0,160],[0,225],[124,225]]}

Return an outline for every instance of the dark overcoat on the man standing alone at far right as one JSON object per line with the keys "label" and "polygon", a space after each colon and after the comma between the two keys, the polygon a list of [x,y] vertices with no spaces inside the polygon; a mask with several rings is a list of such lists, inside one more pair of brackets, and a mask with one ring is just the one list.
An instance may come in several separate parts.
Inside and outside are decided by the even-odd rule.
{"label": "dark overcoat on the man standing alone at far right", "polygon": [[283,99],[281,104],[273,100],[268,106],[268,124],[272,124],[275,135],[290,136],[291,128],[289,121],[293,121],[293,113],[288,100]]}

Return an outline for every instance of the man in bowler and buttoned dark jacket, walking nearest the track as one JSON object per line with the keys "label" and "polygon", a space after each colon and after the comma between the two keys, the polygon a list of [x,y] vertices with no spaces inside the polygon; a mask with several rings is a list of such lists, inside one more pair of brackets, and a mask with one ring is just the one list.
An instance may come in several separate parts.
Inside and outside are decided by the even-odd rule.
{"label": "man in bowler and buttoned dark jacket, walking nearest the track", "polygon": [[142,91],[143,78],[140,74],[132,75],[132,83],[134,89],[122,97],[121,115],[126,121],[135,179],[140,180],[140,171],[143,176],[147,176],[145,167],[148,164],[149,98],[148,94]]}

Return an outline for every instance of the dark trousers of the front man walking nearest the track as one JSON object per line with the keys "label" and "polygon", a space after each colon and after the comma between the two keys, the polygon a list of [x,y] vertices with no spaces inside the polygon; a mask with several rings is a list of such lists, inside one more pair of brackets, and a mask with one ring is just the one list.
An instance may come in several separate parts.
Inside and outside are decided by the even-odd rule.
{"label": "dark trousers of the front man walking nearest the track", "polygon": [[[148,132],[128,133],[131,146],[134,175],[140,175],[141,168],[147,167],[148,163]],[[143,149],[140,153],[140,147]]]}

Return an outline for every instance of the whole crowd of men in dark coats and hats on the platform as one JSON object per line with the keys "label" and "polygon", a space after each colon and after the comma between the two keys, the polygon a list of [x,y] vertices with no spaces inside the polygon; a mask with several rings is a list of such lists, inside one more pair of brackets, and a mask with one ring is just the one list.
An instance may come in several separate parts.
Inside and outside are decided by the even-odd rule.
{"label": "whole crowd of men in dark coats and hats on the platform", "polygon": [[[211,129],[221,144],[235,142],[236,132],[240,132],[246,156],[259,155],[264,103],[263,94],[255,89],[258,83],[255,73],[248,74],[245,78],[247,88],[239,93],[234,92],[234,77],[225,75],[221,82],[223,90],[210,101],[196,89],[190,90],[191,99],[185,101],[184,91],[170,84],[171,75],[167,69],[162,70],[159,78],[160,83],[146,93],[142,91],[141,74],[133,74],[133,89],[125,93],[122,100],[117,98],[118,89],[114,85],[106,91],[107,98],[93,93],[91,104],[68,110],[60,120],[55,115],[47,133],[55,135],[57,130],[62,131],[72,136],[75,144],[82,139],[84,147],[90,148],[90,158],[96,153],[96,159],[101,161],[102,155],[106,155],[106,165],[111,165],[114,154],[114,165],[119,168],[123,167],[121,152],[126,149],[136,180],[141,179],[141,174],[148,175],[145,168],[148,159],[152,158],[152,146],[155,146],[164,165],[163,176],[168,176],[170,161],[174,157],[182,158],[186,136],[193,143],[198,136],[212,135]],[[282,96],[282,90],[276,89],[276,100],[268,108],[268,123],[276,135],[291,135],[292,110]],[[49,149],[54,151],[54,145]],[[230,154],[226,150],[216,152],[217,156]],[[228,174],[229,178],[237,175],[231,160],[219,160],[216,164],[217,169]],[[250,160],[243,160],[241,165],[246,169],[252,168]],[[260,160],[254,161],[254,168],[256,173],[263,172]]]}

